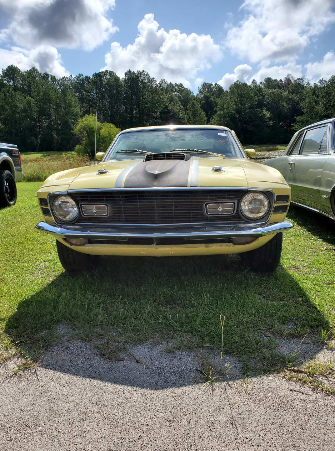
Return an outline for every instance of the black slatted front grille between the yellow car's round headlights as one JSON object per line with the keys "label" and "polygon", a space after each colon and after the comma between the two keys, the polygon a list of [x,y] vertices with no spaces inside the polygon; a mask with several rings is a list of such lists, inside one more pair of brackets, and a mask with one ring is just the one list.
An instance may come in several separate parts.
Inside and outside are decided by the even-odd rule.
{"label": "black slatted front grille between the yellow car's round headlights", "polygon": [[[77,222],[93,224],[183,224],[196,222],[241,221],[238,213],[244,190],[167,189],[111,190],[70,193],[80,206]],[[208,216],[207,202],[235,202],[230,215]],[[107,216],[84,216],[82,205],[107,205]]]}

